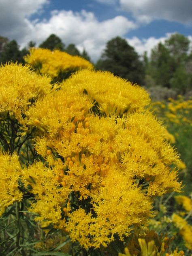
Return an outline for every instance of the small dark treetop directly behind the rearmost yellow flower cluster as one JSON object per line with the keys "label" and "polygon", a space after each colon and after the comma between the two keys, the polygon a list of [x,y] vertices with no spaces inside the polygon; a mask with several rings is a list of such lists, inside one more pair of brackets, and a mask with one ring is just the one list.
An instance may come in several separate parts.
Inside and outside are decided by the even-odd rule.
{"label": "small dark treetop directly behind the rearmost yellow flower cluster", "polygon": [[61,38],[56,36],[55,34],[51,34],[43,43],[39,45],[41,48],[50,49],[53,51],[54,49],[59,49],[60,51],[64,51],[64,43],[62,43]]}

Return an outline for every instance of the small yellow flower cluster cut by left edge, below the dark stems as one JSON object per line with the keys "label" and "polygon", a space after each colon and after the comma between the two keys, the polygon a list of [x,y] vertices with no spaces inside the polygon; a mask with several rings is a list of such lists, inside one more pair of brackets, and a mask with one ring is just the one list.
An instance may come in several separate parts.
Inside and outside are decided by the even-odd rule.
{"label": "small yellow flower cluster cut by left edge, below the dark stems", "polygon": [[18,180],[21,175],[21,166],[18,156],[0,153],[0,216],[4,210],[15,201],[22,200]]}

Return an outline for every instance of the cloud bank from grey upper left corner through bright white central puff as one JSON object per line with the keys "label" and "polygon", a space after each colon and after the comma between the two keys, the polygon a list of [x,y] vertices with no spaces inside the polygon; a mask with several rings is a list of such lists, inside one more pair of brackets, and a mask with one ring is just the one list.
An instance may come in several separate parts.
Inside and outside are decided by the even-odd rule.
{"label": "cloud bank from grey upper left corner through bright white central puff", "polygon": [[[14,6],[9,8],[11,3]],[[94,13],[85,10],[80,12],[54,10],[47,20],[30,21],[29,17],[41,11],[43,4],[47,3],[47,0],[35,2],[0,0],[4,12],[4,17],[0,15],[0,23],[4,25],[0,28],[0,34],[17,40],[19,45],[24,47],[31,40],[38,45],[54,33],[66,45],[74,43],[80,51],[85,48],[92,60],[96,61],[107,41],[115,36],[124,36],[128,31],[136,28],[136,24],[124,16],[98,21]]]}

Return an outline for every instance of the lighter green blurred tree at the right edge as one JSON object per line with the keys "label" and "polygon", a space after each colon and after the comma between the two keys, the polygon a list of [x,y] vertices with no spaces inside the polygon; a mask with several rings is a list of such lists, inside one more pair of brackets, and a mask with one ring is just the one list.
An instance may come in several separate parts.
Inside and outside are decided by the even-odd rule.
{"label": "lighter green blurred tree at the right edge", "polygon": [[145,54],[145,86],[162,86],[187,94],[192,89],[189,50],[189,39],[175,33],[152,49],[149,60]]}

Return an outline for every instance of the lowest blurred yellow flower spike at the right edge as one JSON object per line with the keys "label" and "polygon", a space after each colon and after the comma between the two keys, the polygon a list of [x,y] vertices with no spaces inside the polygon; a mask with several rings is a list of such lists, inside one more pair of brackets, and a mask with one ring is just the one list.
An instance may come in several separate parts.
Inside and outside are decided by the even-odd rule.
{"label": "lowest blurred yellow flower spike at the right edge", "polygon": [[173,214],[172,219],[175,226],[179,228],[179,234],[183,237],[185,246],[192,250],[192,226],[176,213]]}

